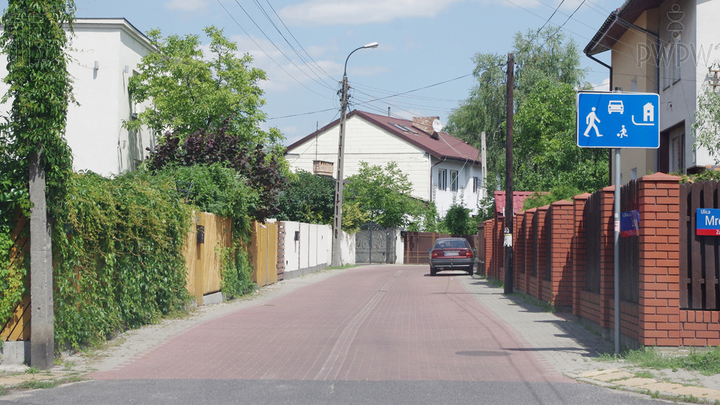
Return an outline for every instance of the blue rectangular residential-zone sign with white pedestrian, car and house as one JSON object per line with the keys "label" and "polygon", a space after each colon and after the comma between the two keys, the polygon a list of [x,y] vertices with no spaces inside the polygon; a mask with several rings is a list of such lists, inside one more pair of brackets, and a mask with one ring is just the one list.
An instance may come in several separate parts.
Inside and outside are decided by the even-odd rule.
{"label": "blue rectangular residential-zone sign with white pedestrian, car and house", "polygon": [[577,145],[657,149],[660,147],[660,96],[579,92]]}

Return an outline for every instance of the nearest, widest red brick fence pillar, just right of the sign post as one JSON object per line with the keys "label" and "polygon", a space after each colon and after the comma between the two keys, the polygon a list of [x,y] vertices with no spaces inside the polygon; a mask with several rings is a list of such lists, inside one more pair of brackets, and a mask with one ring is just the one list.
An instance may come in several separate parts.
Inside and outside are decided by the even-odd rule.
{"label": "nearest, widest red brick fence pillar, just right of the sign post", "polygon": [[655,173],[639,181],[639,327],[645,346],[685,344],[680,331],[679,180]]}

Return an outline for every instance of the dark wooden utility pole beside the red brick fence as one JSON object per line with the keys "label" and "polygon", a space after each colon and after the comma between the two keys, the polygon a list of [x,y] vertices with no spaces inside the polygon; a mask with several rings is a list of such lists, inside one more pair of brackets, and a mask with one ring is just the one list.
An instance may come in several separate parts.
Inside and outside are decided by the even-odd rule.
{"label": "dark wooden utility pole beside the red brick fence", "polygon": [[515,211],[513,207],[513,86],[515,55],[508,54],[507,72],[507,131],[505,136],[505,294],[513,293],[512,234]]}

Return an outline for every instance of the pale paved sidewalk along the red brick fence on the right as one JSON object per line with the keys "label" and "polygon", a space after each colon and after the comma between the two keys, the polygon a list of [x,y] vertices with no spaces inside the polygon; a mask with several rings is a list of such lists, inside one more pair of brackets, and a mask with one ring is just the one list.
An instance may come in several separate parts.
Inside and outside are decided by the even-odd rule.
{"label": "pale paved sidewalk along the red brick fence on the right", "polygon": [[521,294],[505,296],[502,288],[477,276],[463,277],[462,282],[523,337],[528,351],[535,352],[545,364],[568,377],[656,398],[720,401],[720,375],[708,377],[684,370],[645,369],[623,360],[601,361],[601,354],[614,352],[613,344],[583,326],[571,313],[546,312],[533,298]]}

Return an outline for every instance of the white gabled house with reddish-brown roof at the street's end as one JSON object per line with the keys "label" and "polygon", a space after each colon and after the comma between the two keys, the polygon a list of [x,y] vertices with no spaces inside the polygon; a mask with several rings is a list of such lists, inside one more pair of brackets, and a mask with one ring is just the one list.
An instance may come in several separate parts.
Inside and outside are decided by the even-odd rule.
{"label": "white gabled house with reddish-brown roof at the street's end", "polygon": [[[352,111],[345,131],[344,177],[358,173],[360,162],[396,162],[412,183],[412,195],[433,201],[443,216],[453,201],[472,214],[485,197],[480,153],[464,141],[436,132],[437,117],[401,118]],[[339,120],[288,146],[285,157],[293,170],[337,178]]]}

